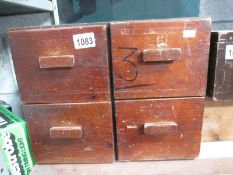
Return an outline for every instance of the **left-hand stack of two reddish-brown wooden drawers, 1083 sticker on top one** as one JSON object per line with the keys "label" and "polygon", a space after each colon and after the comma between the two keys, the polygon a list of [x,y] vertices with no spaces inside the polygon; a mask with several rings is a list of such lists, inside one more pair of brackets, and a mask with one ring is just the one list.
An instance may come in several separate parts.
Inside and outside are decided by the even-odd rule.
{"label": "left-hand stack of two reddish-brown wooden drawers, 1083 sticker on top one", "polygon": [[37,163],[114,160],[106,27],[9,32]]}

